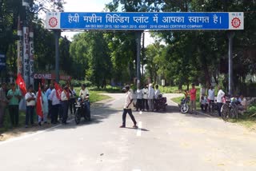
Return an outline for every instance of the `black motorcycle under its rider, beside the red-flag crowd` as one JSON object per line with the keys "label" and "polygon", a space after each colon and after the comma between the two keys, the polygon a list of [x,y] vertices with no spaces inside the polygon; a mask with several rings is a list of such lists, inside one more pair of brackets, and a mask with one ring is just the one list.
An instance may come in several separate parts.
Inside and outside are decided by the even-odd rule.
{"label": "black motorcycle under its rider, beside the red-flag crowd", "polygon": [[78,125],[81,121],[81,117],[85,118],[85,121],[90,121],[90,107],[89,100],[82,100],[81,97],[78,98],[75,104],[75,113],[74,113],[74,121]]}

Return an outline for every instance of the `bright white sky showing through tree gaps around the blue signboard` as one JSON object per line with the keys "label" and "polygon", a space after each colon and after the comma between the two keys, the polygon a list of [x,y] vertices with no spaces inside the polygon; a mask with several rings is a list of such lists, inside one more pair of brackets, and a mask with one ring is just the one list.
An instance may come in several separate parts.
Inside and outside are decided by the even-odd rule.
{"label": "bright white sky showing through tree gaps around the blue signboard", "polygon": [[[105,4],[112,2],[111,0],[65,0],[64,5],[65,12],[102,12],[105,8]],[[78,32],[62,32],[62,36],[69,38],[70,40]],[[148,32],[145,33],[145,46],[154,43],[153,38],[150,38]]]}

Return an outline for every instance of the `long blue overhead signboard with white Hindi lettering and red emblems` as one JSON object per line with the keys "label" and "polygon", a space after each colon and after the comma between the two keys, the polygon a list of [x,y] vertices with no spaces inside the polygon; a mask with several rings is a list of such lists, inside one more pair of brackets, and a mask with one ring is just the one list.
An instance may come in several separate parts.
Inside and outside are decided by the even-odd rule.
{"label": "long blue overhead signboard with white Hindi lettering and red emblems", "polygon": [[57,13],[46,29],[61,30],[243,30],[243,13]]}

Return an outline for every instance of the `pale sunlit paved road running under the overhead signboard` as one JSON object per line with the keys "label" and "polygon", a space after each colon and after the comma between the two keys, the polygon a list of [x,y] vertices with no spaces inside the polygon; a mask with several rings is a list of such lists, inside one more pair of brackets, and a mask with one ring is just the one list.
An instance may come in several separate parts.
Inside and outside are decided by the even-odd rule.
{"label": "pale sunlit paved road running under the overhead signboard", "polygon": [[[123,94],[92,108],[90,124],[59,125],[0,142],[1,171],[256,170],[256,137],[238,125],[185,115],[134,112],[121,125]],[[168,97],[174,95],[166,94]]]}

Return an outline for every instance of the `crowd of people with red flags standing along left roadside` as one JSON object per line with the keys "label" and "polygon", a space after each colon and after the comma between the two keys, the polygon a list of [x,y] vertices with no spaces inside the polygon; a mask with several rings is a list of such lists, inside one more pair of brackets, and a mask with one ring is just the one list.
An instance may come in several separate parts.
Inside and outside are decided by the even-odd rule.
{"label": "crowd of people with red flags standing along left roadside", "polygon": [[[67,83],[62,86],[62,90],[55,89],[54,82],[50,85],[41,85],[41,104],[43,116],[38,115],[38,125],[42,124],[67,124],[68,111],[75,112],[75,99],[82,97],[89,99],[89,91],[86,85],[82,85],[80,93],[74,90],[74,87]],[[34,124],[38,92],[34,91],[33,85],[30,85],[26,94],[22,94],[18,86],[10,84],[10,90],[6,91],[6,83],[2,83],[0,88],[0,128],[3,126],[6,109],[9,110],[10,123],[12,127],[19,125],[19,111],[26,112],[25,127],[28,128]],[[23,104],[23,106],[22,106]],[[89,106],[90,108],[90,103]],[[48,121],[49,120],[49,121]]]}

